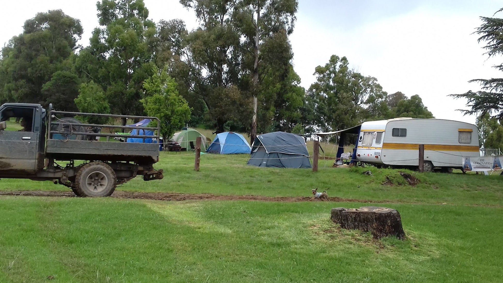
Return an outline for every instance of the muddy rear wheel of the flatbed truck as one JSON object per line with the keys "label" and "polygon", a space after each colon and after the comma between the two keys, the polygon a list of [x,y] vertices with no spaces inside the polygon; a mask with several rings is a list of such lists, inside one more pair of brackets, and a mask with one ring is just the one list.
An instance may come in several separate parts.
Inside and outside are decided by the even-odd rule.
{"label": "muddy rear wheel of the flatbed truck", "polygon": [[117,177],[106,163],[91,162],[75,176],[75,195],[79,197],[108,197],[115,191]]}

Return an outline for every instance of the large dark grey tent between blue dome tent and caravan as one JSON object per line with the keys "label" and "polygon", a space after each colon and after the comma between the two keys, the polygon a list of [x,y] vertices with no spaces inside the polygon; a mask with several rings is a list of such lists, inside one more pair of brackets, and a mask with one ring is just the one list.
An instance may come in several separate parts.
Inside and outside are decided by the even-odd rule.
{"label": "large dark grey tent between blue dome tent and caravan", "polygon": [[255,138],[246,163],[259,167],[311,168],[306,142],[300,136],[274,132]]}

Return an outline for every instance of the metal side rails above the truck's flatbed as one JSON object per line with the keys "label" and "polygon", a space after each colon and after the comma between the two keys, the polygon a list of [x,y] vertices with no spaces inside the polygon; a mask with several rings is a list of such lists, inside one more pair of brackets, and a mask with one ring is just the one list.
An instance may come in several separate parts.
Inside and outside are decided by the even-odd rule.
{"label": "metal side rails above the truck's flatbed", "polygon": [[[52,105],[49,106],[49,109],[52,109]],[[101,124],[87,124],[87,123],[73,123],[67,121],[61,121],[57,119],[53,121],[53,116],[55,115],[64,115],[68,116],[99,116],[99,117],[107,117],[107,118],[129,118],[129,119],[149,119],[157,121],[157,127],[144,127],[144,126],[119,126],[119,125],[101,125]],[[52,130],[52,126],[58,125],[70,125],[70,132],[61,132]],[[146,116],[133,116],[133,115],[114,115],[114,114],[96,114],[96,113],[81,113],[81,112],[66,112],[66,111],[55,111],[50,110],[48,113],[48,126],[49,129],[47,131],[47,139],[51,139],[53,134],[66,134],[66,135],[77,135],[77,136],[89,136],[89,137],[106,137],[107,141],[110,141],[111,137],[121,137],[124,138],[126,142],[128,138],[141,138],[143,139],[143,143],[145,142],[145,138],[152,138],[159,140],[160,138],[160,121],[156,117],[146,117]],[[81,131],[73,131],[72,128],[76,127],[100,127],[100,128],[109,128],[109,129],[138,129],[145,131],[150,130],[153,131],[153,135],[139,135],[139,134],[131,134],[129,136],[119,135],[115,133],[95,133],[95,132],[81,132]],[[78,128],[77,128],[78,129]],[[112,130],[110,130],[112,132]],[[139,131],[138,131],[139,132]]]}

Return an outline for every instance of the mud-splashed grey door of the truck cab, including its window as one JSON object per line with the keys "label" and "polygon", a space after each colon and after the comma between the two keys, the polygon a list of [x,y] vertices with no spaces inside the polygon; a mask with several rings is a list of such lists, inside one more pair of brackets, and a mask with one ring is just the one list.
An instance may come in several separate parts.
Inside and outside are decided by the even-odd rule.
{"label": "mud-splashed grey door of the truck cab, including its window", "polygon": [[16,106],[1,110],[0,122],[5,121],[7,127],[0,130],[0,170],[35,172],[40,134],[33,131],[40,129],[34,125],[35,110]]}

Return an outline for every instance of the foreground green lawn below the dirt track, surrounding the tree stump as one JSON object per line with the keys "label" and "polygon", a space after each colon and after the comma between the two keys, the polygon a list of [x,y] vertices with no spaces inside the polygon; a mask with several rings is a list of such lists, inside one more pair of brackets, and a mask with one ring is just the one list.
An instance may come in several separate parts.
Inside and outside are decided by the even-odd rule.
{"label": "foreground green lawn below the dirt track, surrounding the tree stump", "polygon": [[3,197],[0,281],[503,280],[501,208],[393,205],[402,242],[338,229],[334,206]]}

